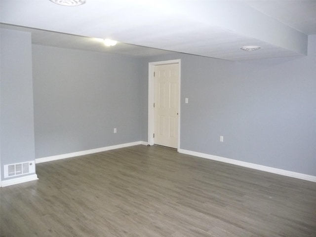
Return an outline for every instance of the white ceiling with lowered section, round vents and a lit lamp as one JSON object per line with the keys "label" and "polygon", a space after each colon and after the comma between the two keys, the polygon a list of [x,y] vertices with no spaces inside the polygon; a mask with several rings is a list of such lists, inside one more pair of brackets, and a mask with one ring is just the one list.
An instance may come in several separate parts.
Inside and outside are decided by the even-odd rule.
{"label": "white ceiling with lowered section, round vents and a lit lamp", "polygon": [[[2,28],[27,27],[23,30],[32,32],[36,44],[164,53],[157,48],[237,61],[306,55],[308,35],[316,34],[316,0],[86,0],[76,7],[49,0],[0,0],[0,22]],[[105,49],[90,38],[133,45]],[[239,49],[245,45],[261,49]]]}

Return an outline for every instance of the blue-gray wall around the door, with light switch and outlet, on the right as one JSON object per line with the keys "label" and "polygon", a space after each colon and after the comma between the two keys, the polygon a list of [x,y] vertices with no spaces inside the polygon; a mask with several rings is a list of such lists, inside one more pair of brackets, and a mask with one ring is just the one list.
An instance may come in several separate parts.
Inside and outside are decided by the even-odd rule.
{"label": "blue-gray wall around the door, with light switch and outlet, on the right", "polygon": [[252,62],[177,54],[147,58],[144,68],[179,58],[181,149],[316,175],[315,54]]}

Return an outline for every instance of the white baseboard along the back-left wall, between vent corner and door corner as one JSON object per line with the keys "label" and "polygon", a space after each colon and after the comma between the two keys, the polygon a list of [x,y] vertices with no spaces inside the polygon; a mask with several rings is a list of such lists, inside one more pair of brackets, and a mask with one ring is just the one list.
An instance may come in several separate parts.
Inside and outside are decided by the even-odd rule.
{"label": "white baseboard along the back-left wall, between vent corner and door corner", "polygon": [[98,152],[110,151],[110,150],[114,150],[118,148],[131,147],[131,146],[136,146],[136,145],[145,145],[145,143],[146,142],[142,142],[142,141],[130,142],[130,143],[124,143],[124,144],[119,144],[119,145],[114,145],[114,146],[109,146],[109,147],[102,147],[102,148],[96,148],[96,149],[91,149],[91,150],[86,150],[86,151],[62,154],[62,155],[57,155],[57,156],[37,158],[35,159],[35,163],[39,164],[42,162],[48,162],[48,161],[53,161],[53,160],[58,160],[58,159],[79,157],[79,156],[89,155],[89,154],[98,153]]}

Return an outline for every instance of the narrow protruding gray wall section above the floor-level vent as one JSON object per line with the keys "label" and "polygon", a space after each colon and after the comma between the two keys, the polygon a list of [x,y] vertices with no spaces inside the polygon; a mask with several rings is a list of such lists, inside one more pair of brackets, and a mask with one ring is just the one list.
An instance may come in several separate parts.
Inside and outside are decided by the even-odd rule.
{"label": "narrow protruding gray wall section above the floor-level vent", "polygon": [[4,180],[3,165],[34,160],[35,150],[31,34],[1,29],[0,37],[0,161]]}

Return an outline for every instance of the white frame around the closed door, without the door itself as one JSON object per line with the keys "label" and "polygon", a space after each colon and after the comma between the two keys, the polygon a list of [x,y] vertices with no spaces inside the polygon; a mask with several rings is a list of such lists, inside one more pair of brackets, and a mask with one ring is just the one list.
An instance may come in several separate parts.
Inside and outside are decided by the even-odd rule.
{"label": "white frame around the closed door, without the door itself", "polygon": [[181,108],[181,59],[158,61],[148,63],[148,145],[155,144],[154,131],[155,131],[155,112],[154,112],[154,99],[155,99],[155,83],[154,72],[155,67],[158,65],[178,64],[179,67],[179,98],[178,98],[178,146],[180,149],[180,108]]}

